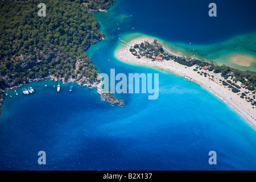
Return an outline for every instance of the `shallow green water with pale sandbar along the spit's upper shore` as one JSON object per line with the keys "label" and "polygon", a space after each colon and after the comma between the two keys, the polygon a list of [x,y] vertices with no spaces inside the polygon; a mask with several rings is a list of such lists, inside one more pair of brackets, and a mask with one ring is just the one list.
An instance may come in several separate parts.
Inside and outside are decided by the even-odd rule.
{"label": "shallow green water with pale sandbar along the spit's upper shore", "polygon": [[[251,50],[254,46],[252,40],[256,38],[255,33],[234,36],[233,38],[223,40],[223,42],[206,45],[195,44],[193,42],[191,44],[189,44],[189,42],[167,42],[161,38],[144,35],[142,33],[131,33],[121,37],[121,39],[126,42],[144,38],[151,40],[157,39],[163,47],[171,50],[175,55],[191,56],[190,53],[194,55],[198,52],[198,54],[196,54],[196,59],[198,60],[208,62],[217,60],[219,65],[225,64],[229,67],[240,69],[241,71],[249,70],[256,72],[256,52]],[[238,45],[241,45],[242,48]]]}

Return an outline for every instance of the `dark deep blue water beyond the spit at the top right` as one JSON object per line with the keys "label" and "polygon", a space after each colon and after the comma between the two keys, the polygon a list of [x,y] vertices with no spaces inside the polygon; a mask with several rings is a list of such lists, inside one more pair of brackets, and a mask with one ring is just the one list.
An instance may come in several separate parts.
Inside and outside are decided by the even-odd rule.
{"label": "dark deep blue water beyond the spit at the top right", "polygon": [[[217,17],[208,15],[212,2],[217,5]],[[120,28],[122,34],[141,32],[167,42],[201,45],[255,32],[255,5],[251,0],[119,0],[110,12],[113,16],[98,16],[104,16],[102,26],[110,36]]]}

